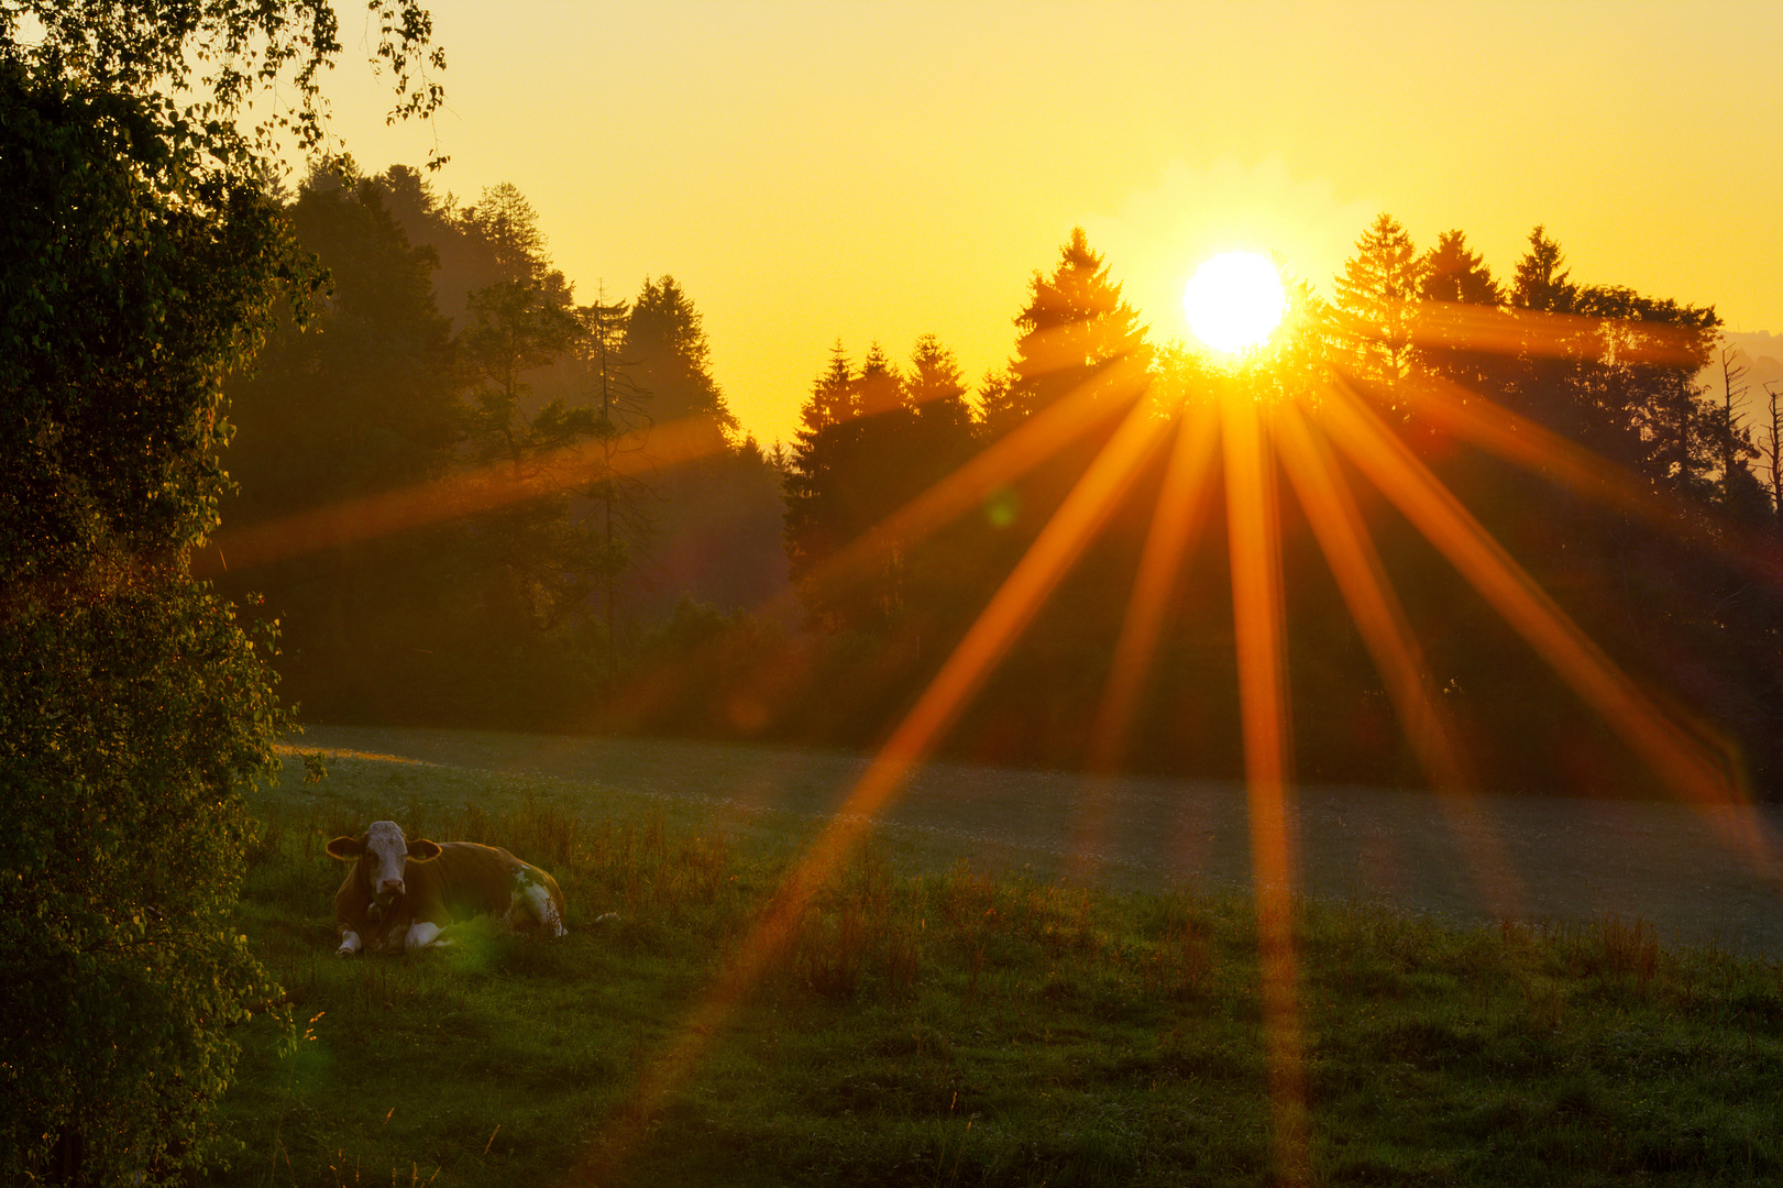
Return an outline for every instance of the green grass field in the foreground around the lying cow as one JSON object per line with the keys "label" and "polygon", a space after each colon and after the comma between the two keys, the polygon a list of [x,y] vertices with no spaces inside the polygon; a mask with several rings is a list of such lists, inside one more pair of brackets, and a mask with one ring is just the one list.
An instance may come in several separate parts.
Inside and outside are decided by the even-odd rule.
{"label": "green grass field in the foreground around the lying cow", "polygon": [[[287,762],[253,801],[241,919],[294,1026],[239,1033],[219,1183],[1275,1183],[1234,892],[868,847],[690,1031],[795,829],[592,781],[328,765],[305,785]],[[323,844],[385,815],[553,870],[571,936],[335,958]],[[1610,917],[1467,929],[1318,901],[1294,933],[1311,1183],[1783,1179],[1776,963]]]}

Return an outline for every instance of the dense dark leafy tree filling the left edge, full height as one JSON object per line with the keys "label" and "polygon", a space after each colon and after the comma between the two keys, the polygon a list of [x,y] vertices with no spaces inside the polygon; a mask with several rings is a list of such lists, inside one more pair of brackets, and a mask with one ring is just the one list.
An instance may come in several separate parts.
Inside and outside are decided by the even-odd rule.
{"label": "dense dark leafy tree filling the left edge, full height", "polygon": [[228,917],[271,640],[185,560],[223,373],[307,280],[157,102],[4,62],[0,128],[0,1168],[159,1183],[210,1154],[223,1027],[269,995]]}

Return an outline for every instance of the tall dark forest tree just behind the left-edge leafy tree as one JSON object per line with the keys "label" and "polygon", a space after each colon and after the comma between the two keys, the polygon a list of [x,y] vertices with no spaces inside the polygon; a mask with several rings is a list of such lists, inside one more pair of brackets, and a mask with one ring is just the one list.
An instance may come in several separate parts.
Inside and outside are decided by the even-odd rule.
{"label": "tall dark forest tree just behind the left-edge leafy tree", "polygon": [[[410,243],[382,178],[319,169],[285,209],[300,246],[326,269],[307,325],[282,318],[253,371],[230,378],[237,433],[225,499],[230,524],[376,496],[439,478],[465,433],[465,380],[433,301],[431,248]],[[451,530],[360,540],[218,574],[219,589],[269,596],[282,623],[285,689],[310,712],[394,706],[390,687],[430,689],[431,658],[462,619]],[[225,565],[232,562],[223,549]]]}

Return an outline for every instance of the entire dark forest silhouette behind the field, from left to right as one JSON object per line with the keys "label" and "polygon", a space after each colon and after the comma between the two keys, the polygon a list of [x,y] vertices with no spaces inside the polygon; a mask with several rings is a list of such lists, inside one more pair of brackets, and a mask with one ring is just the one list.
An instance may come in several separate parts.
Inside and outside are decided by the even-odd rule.
{"label": "entire dark forest silhouette behind the field, from left to right", "polygon": [[[282,621],[283,694],[312,721],[629,730],[872,746],[934,676],[1134,398],[1182,417],[1211,400],[1204,357],[1148,341],[1109,266],[1073,232],[1034,273],[1006,369],[975,392],[945,344],[908,360],[838,342],[795,441],[740,437],[699,312],[672,276],[576,305],[524,196],[439,200],[396,168],[312,177],[291,202],[332,269],[326,314],[273,335],[232,387],[239,501],[275,519],[472,466],[549,466],[604,442],[553,494],[230,574]],[[1419,252],[1391,218],[1357,241],[1327,307],[1296,289],[1294,367],[1355,376],[1393,430],[1605,651],[1774,783],[1774,442],[1697,385],[1719,319],[1573,280],[1537,228],[1508,280],[1458,230]],[[1569,318],[1560,350],[1432,344],[1428,303]],[[1630,330],[1633,328],[1633,330]],[[1642,362],[1630,335],[1681,335]],[[1621,335],[1621,337],[1619,337]],[[1311,375],[1311,373],[1309,373]],[[1605,510],[1466,446],[1409,394],[1489,398],[1623,467],[1678,532]],[[1097,389],[1056,453],[920,537],[849,546],[1061,398]],[[1143,392],[1143,396],[1141,396]],[[674,457],[651,435],[676,426]],[[1769,425],[1765,426],[1769,433]],[[613,450],[642,451],[615,467]],[[957,755],[1082,765],[1163,483],[1139,476],[950,735]],[[1214,485],[1218,491],[1218,485]],[[1155,644],[1125,765],[1241,771],[1221,496]],[[1651,792],[1651,772],[1378,498],[1385,567],[1482,787]],[[1309,780],[1421,785],[1368,649],[1284,485],[1294,749]],[[225,557],[226,560],[226,557]],[[788,585],[790,590],[788,590]],[[790,596],[792,594],[792,596]]]}

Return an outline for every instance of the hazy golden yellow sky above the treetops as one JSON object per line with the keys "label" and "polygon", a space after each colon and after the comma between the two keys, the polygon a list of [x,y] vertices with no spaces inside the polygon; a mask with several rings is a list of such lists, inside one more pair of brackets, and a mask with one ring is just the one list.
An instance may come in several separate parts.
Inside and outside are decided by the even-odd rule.
{"label": "hazy golden yellow sky above the treetops", "polygon": [[394,132],[342,11],[348,148],[514,182],[583,301],[672,273],[763,441],[838,337],[1000,366],[1073,225],[1155,341],[1207,255],[1328,293],[1378,210],[1500,275],[1544,223],[1578,280],[1783,330],[1779,0],[430,7],[449,107]]}

